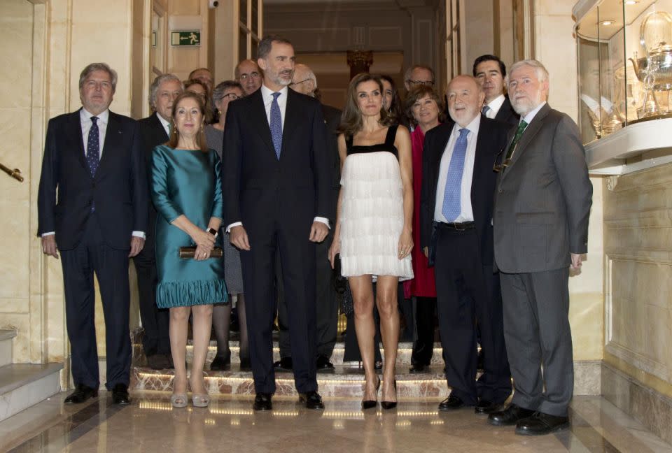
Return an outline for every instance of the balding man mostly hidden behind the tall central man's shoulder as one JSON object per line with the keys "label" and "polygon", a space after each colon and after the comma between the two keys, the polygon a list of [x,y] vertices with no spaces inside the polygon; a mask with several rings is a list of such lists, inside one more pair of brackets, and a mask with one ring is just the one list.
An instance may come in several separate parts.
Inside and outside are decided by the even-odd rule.
{"label": "balding man mostly hidden behind the tall central man's shoulder", "polygon": [[[289,85],[297,93],[305,94],[307,96],[317,97],[317,78],[315,73],[305,64],[296,64],[294,66],[294,75],[292,83]],[[331,168],[331,187],[332,187],[332,203],[334,206],[338,200],[338,192],[340,185],[340,159],[338,157],[338,127],[341,122],[341,110],[322,106],[322,115],[324,117],[324,124],[328,132],[328,158]],[[335,221],[334,218],[331,219]],[[338,324],[338,306],[336,303],[336,292],[332,285],[331,275],[332,270],[328,260],[329,247],[333,238],[332,231],[321,243],[315,247],[316,250],[316,319],[317,319],[317,357],[316,369],[318,373],[333,373],[334,366],[331,363],[331,354],[334,352],[336,345],[336,333]],[[279,282],[281,287],[281,282]],[[291,294],[285,294],[279,288],[278,292],[278,326],[280,328],[280,363],[276,368],[293,368],[292,354],[291,354],[291,340],[288,329],[288,313],[285,297],[292,297]]]}

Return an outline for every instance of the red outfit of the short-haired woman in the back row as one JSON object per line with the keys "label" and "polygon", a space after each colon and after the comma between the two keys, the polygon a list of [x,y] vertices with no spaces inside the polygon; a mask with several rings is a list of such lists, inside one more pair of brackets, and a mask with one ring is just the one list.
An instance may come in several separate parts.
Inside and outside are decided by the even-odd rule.
{"label": "red outfit of the short-haired woman in the back row", "polygon": [[420,190],[422,187],[422,146],[425,134],[419,127],[411,133],[411,152],[413,157],[413,250],[411,252],[413,280],[403,282],[404,297],[436,297],[434,268],[427,266],[427,257],[420,247]]}

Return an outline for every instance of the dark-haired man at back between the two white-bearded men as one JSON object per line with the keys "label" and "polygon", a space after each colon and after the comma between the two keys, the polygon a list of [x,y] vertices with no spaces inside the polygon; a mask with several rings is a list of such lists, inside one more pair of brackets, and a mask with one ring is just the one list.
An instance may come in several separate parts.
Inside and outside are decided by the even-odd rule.
{"label": "dark-haired man at back between the two white-bearded men", "polygon": [[474,60],[473,74],[485,93],[482,113],[493,120],[517,126],[519,116],[504,92],[506,66],[495,55],[481,55]]}

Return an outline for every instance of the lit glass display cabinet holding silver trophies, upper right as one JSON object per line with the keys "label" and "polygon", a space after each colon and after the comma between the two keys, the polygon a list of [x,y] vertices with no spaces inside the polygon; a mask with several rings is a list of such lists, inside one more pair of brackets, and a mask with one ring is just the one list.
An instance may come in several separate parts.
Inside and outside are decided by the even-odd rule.
{"label": "lit glass display cabinet holding silver trophies, upper right", "polygon": [[[593,151],[610,153],[598,160],[627,164],[638,150],[672,148],[672,0],[582,0],[573,13],[589,164]],[[636,137],[658,134],[655,143],[633,142],[643,123]]]}

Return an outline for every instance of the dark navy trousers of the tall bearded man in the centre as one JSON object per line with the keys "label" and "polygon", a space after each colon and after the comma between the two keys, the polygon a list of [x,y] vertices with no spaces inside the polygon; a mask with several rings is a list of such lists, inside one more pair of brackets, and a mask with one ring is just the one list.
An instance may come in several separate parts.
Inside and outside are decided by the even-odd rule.
{"label": "dark navy trousers of the tall bearded man in the centre", "polygon": [[250,359],[257,393],[275,392],[272,326],[276,311],[276,255],[287,294],[294,382],[300,393],[315,391],[315,245],[309,229],[270,218],[248,230],[251,250],[241,250]]}

